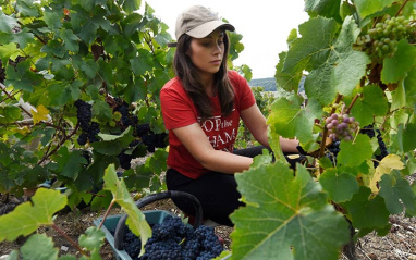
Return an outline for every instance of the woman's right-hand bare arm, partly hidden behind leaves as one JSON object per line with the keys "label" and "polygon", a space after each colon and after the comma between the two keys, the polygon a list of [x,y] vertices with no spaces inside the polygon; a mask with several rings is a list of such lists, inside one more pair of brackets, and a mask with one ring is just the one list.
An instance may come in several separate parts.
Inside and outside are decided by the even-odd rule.
{"label": "woman's right-hand bare arm, partly hidden behind leaves", "polygon": [[[267,136],[267,122],[265,115],[258,109],[257,104],[253,104],[248,109],[241,111],[241,117],[247,126],[254,138],[264,146],[269,146]],[[280,137],[280,146],[284,152],[298,152],[296,149],[298,141],[296,139],[287,139]]]}

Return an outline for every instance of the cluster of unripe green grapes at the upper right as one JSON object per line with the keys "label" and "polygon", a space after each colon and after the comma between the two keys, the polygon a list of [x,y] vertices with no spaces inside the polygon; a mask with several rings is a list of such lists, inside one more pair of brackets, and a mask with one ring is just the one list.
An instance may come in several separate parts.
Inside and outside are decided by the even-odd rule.
{"label": "cluster of unripe green grapes at the upper right", "polygon": [[366,49],[367,54],[377,58],[391,58],[397,50],[397,42],[415,32],[415,27],[404,16],[387,17],[368,30],[372,44]]}

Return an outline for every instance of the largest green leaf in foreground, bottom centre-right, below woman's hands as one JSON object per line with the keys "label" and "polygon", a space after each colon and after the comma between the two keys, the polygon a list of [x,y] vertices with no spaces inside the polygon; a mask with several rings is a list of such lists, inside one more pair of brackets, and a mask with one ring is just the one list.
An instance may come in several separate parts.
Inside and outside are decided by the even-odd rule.
{"label": "largest green leaf in foreground, bottom centre-right, below woman's hands", "polygon": [[246,203],[231,219],[233,259],[338,259],[347,223],[303,166],[282,163],[237,174]]}

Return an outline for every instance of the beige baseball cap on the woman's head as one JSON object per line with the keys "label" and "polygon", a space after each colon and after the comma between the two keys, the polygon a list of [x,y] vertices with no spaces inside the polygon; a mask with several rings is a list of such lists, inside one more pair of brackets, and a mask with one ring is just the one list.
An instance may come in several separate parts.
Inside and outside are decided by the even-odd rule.
{"label": "beige baseball cap on the woman's head", "polygon": [[209,8],[193,5],[178,16],[175,37],[179,40],[182,35],[187,34],[194,38],[204,38],[218,27],[235,30],[234,26],[222,22]]}

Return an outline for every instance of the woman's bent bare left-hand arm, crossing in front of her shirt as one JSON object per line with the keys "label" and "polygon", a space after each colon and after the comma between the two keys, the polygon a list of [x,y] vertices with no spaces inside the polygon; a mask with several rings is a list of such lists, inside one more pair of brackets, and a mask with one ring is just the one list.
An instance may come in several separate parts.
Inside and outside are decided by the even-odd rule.
{"label": "woman's bent bare left-hand arm, crossing in front of her shirt", "polygon": [[197,123],[172,131],[195,160],[208,170],[234,174],[248,170],[253,163],[253,158],[213,149]]}

